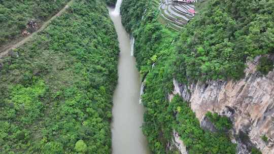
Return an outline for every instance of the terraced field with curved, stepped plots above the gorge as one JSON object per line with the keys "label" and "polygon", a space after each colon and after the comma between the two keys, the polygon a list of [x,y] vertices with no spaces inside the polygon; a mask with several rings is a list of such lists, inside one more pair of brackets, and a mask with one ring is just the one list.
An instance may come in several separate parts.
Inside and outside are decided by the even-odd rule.
{"label": "terraced field with curved, stepped plots above the gorge", "polygon": [[180,31],[193,17],[188,10],[195,9],[193,4],[177,3],[172,0],[161,0],[159,10],[161,17],[167,22],[167,27]]}

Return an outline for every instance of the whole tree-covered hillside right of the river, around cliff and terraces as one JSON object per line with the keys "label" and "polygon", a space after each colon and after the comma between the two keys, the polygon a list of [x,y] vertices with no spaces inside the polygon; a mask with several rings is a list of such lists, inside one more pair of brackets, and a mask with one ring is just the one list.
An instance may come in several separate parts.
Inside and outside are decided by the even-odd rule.
{"label": "whole tree-covered hillside right of the river, around cliff and terraces", "polygon": [[150,148],[154,153],[177,153],[168,147],[175,130],[189,153],[235,153],[228,134],[203,132],[189,103],[178,98],[169,102],[167,94],[174,88],[173,79],[186,85],[240,79],[245,63],[258,55],[266,59],[258,71],[272,70],[266,54],[272,54],[274,45],[273,1],[202,1],[180,32],[161,23],[155,4],[124,0],[121,8],[122,23],[135,37],[134,56],[145,81],[143,132]]}

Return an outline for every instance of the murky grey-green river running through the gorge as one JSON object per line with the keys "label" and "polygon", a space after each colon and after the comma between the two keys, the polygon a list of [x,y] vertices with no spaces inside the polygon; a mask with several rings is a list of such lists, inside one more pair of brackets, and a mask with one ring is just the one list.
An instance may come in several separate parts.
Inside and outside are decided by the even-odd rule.
{"label": "murky grey-green river running through the gorge", "polygon": [[146,137],[142,133],[144,107],[139,104],[141,79],[131,56],[130,38],[121,23],[118,0],[116,9],[109,9],[110,17],[118,34],[120,47],[118,63],[118,85],[113,96],[112,153],[147,154]]}

